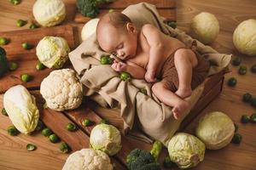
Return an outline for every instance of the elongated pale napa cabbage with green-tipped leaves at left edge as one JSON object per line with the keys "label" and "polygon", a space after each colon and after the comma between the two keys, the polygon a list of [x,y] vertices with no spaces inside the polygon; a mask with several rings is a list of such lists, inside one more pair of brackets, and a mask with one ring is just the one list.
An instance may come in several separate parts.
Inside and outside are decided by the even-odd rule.
{"label": "elongated pale napa cabbage with green-tipped leaves at left edge", "polygon": [[17,85],[3,95],[3,106],[20,133],[31,133],[38,125],[39,111],[35,98]]}

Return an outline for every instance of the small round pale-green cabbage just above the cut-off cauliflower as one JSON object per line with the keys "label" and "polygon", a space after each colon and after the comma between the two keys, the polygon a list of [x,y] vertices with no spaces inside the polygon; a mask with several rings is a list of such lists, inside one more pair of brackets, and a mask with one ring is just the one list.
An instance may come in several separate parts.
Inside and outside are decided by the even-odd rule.
{"label": "small round pale-green cabbage just above the cut-off cauliflower", "polygon": [[113,156],[121,149],[120,132],[112,125],[98,124],[90,133],[90,145],[95,150],[102,150]]}

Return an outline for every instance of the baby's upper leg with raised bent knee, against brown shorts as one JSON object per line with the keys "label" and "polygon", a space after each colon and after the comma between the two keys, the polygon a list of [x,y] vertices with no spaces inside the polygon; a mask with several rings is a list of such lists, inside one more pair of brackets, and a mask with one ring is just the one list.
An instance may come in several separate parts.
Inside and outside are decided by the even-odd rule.
{"label": "baby's upper leg with raised bent knee, against brown shorts", "polygon": [[180,48],[174,54],[174,65],[177,69],[178,77],[178,88],[175,94],[182,99],[189,97],[192,94],[192,70],[197,63],[198,60],[191,49]]}

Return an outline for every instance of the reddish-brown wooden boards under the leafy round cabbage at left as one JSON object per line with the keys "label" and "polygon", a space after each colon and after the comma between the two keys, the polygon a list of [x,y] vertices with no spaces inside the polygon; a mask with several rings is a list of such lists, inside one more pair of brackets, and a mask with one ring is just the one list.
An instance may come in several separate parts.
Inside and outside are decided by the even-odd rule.
{"label": "reddish-brown wooden boards under the leafy round cabbage at left", "polygon": [[[64,37],[67,40],[70,48],[73,49],[75,46],[73,26],[69,25],[0,33],[0,37],[6,37],[10,39],[9,44],[3,46],[3,48],[6,50],[8,60],[16,62],[19,65],[16,71],[9,71],[0,78],[0,94],[4,93],[7,89],[17,84],[22,84],[26,88],[40,87],[44,77],[47,77],[49,72],[52,71],[48,68],[44,71],[36,70],[36,65],[38,63],[38,57],[36,56],[36,46],[38,42],[45,36]],[[32,43],[34,48],[30,50],[23,49],[21,47],[23,42]],[[20,75],[24,73],[32,75],[33,80],[31,82],[22,82],[20,80]]]}

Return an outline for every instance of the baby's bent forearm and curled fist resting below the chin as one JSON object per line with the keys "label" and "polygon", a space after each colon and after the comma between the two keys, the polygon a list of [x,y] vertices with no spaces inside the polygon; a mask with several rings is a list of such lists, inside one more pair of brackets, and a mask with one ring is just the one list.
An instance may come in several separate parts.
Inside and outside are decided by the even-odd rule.
{"label": "baby's bent forearm and curled fist resting below the chin", "polygon": [[146,73],[146,70],[131,61],[126,61],[126,63],[123,63],[118,60],[113,61],[113,65],[111,65],[114,71],[125,71],[128,72],[131,77],[137,78],[137,79],[143,79]]}

